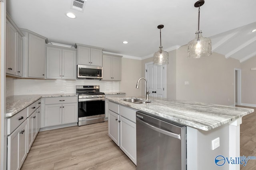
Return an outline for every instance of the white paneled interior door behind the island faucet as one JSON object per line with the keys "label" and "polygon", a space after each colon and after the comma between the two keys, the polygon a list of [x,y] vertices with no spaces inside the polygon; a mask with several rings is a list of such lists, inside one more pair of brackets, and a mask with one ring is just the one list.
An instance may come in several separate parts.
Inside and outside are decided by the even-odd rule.
{"label": "white paneled interior door behind the island faucet", "polygon": [[150,97],[166,98],[166,65],[158,66],[153,62],[145,64],[145,77],[150,88]]}

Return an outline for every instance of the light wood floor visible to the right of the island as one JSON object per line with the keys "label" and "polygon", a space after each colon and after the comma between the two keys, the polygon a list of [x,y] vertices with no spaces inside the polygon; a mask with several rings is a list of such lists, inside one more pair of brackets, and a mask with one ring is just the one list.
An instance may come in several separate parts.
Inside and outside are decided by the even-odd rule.
{"label": "light wood floor visible to the right of the island", "polygon": [[[242,117],[242,124],[240,125],[240,156],[256,156],[256,107],[247,108],[254,109],[254,112]],[[248,160],[246,166],[240,166],[240,170],[255,169],[256,160]]]}

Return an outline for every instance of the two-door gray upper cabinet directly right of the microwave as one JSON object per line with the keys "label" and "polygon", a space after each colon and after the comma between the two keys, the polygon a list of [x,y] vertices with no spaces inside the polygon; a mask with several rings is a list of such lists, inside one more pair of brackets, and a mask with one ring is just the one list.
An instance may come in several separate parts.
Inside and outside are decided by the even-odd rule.
{"label": "two-door gray upper cabinet directly right of the microwave", "polygon": [[122,56],[103,54],[102,80],[121,81]]}

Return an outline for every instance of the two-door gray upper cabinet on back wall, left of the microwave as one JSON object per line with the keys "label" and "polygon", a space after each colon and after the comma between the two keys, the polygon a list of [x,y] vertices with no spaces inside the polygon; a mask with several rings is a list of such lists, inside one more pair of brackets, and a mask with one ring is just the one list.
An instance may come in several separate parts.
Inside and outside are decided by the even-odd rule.
{"label": "two-door gray upper cabinet on back wall, left of the microwave", "polygon": [[46,45],[46,78],[76,79],[76,49]]}

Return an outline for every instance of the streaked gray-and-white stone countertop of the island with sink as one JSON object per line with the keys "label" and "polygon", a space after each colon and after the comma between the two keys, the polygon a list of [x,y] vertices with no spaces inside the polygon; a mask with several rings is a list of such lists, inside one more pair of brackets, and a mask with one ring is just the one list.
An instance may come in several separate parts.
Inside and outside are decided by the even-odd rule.
{"label": "streaked gray-and-white stone countertop of the island with sink", "polygon": [[147,104],[134,104],[122,100],[128,98],[145,99],[145,96],[116,97],[108,100],[204,131],[210,131],[254,111],[242,107],[160,98],[149,98],[152,103]]}

